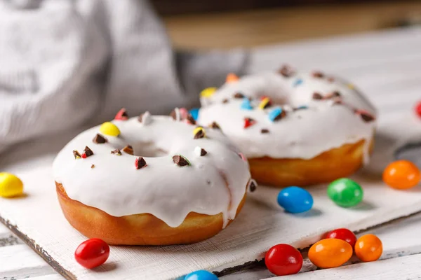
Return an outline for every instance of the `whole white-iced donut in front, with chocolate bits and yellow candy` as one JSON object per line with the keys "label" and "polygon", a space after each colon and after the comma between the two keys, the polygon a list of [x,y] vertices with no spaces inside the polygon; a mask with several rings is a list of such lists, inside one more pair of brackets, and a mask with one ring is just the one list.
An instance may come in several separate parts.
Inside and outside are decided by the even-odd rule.
{"label": "whole white-iced donut in front, with chocolate bits and yellow candy", "polygon": [[70,141],[53,162],[67,221],[120,245],[194,243],[233,221],[255,189],[248,163],[218,128],[185,112],[119,112]]}

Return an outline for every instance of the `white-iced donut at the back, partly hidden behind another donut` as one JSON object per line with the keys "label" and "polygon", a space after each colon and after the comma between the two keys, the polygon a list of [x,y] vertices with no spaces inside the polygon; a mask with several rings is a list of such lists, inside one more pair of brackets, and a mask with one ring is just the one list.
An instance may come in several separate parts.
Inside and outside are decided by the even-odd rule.
{"label": "white-iced donut at the back, partly hidden behind another donut", "polygon": [[198,123],[218,123],[258,183],[308,186],[368,162],[375,109],[345,80],[289,66],[233,78],[201,93]]}

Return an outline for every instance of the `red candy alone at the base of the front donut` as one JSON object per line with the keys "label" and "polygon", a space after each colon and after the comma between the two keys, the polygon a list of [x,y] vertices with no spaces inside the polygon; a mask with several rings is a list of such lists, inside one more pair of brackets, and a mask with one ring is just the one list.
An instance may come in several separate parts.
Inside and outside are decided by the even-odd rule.
{"label": "red candy alone at the base of the front donut", "polygon": [[109,246],[99,238],[83,241],[74,252],[74,258],[79,265],[93,268],[102,265],[109,256]]}

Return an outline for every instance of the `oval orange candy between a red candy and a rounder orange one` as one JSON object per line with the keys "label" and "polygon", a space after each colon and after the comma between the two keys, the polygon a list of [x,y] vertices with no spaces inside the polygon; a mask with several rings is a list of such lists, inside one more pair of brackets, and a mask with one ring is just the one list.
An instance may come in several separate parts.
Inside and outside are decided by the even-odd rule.
{"label": "oval orange candy between a red candy and a rounder orange one", "polygon": [[309,260],[321,268],[339,267],[352,256],[352,246],[341,239],[322,239],[310,247]]}

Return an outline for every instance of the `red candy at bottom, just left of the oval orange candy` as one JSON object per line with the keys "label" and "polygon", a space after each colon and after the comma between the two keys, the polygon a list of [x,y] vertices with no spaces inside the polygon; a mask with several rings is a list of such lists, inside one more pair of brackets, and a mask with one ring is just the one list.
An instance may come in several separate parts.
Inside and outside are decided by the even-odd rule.
{"label": "red candy at bottom, just left of the oval orange candy", "polygon": [[302,255],[293,246],[278,244],[267,251],[265,265],[277,276],[296,274],[302,267]]}

